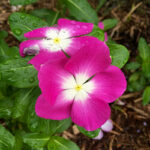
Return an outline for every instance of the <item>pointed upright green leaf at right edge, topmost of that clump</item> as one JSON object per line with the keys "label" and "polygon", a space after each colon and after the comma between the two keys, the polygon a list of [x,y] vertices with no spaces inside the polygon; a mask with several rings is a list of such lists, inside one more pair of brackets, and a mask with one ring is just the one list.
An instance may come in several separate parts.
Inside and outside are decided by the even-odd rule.
{"label": "pointed upright green leaf at right edge, topmost of that clump", "polygon": [[147,60],[150,58],[150,48],[144,38],[140,38],[138,43],[139,55],[143,60]]}

